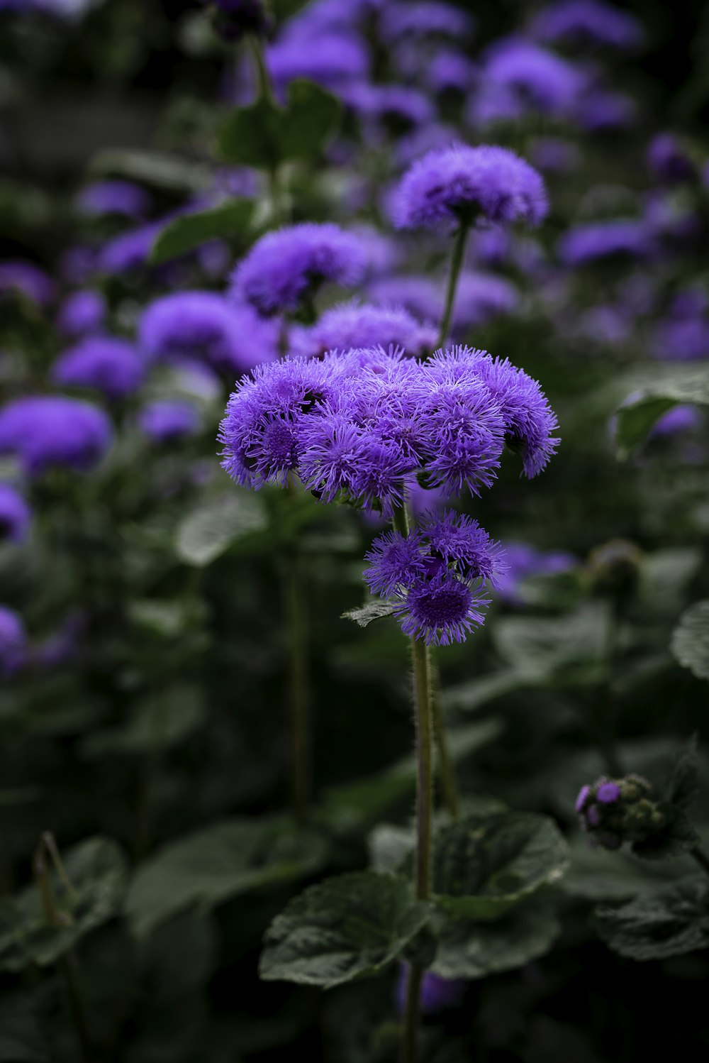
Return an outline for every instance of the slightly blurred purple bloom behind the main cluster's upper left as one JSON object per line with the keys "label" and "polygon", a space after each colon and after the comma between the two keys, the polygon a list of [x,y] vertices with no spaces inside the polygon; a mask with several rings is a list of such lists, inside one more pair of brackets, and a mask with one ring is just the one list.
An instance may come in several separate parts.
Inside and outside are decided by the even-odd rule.
{"label": "slightly blurred purple bloom behind the main cluster's upper left", "polygon": [[294,313],[325,281],[351,287],[366,267],[357,236],[330,222],[304,222],[262,236],[237,267],[231,294],[266,317]]}

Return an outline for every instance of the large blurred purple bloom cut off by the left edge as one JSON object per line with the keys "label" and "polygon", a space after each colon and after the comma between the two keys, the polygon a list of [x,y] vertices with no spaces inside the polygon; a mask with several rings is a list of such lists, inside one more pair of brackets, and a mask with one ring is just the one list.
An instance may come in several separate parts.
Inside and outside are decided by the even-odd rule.
{"label": "large blurred purple bloom cut off by the left edge", "polygon": [[110,441],[104,411],[79,399],[31,395],[0,409],[0,454],[16,454],[31,476],[52,466],[87,472]]}

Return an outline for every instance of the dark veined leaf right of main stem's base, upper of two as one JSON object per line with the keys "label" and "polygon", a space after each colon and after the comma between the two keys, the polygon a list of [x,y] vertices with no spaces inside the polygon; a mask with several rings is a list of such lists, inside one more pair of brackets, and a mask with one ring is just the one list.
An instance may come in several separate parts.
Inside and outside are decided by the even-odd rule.
{"label": "dark veined leaf right of main stem's base, upper of two", "polygon": [[568,864],[568,845],[546,815],[464,815],[434,833],[434,900],[454,915],[498,918],[540,887],[557,882]]}

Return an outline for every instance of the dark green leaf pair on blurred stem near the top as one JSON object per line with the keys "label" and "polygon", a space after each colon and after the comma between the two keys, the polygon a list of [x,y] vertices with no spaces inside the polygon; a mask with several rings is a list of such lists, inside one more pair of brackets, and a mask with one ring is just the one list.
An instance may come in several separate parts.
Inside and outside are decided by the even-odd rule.
{"label": "dark green leaf pair on blurred stem near the top", "polygon": [[232,111],[218,131],[218,153],[226,163],[266,170],[314,158],[336,132],[341,111],[340,101],[319,85],[293,81],[286,107],[261,97]]}

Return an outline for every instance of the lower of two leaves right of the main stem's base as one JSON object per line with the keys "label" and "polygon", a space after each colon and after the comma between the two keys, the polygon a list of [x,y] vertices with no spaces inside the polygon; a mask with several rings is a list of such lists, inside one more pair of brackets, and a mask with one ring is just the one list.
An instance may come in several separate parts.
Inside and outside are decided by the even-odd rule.
{"label": "lower of two leaves right of the main stem's base", "polygon": [[495,923],[443,916],[432,971],[443,978],[484,978],[514,971],[549,950],[559,932],[550,897],[532,897]]}

